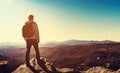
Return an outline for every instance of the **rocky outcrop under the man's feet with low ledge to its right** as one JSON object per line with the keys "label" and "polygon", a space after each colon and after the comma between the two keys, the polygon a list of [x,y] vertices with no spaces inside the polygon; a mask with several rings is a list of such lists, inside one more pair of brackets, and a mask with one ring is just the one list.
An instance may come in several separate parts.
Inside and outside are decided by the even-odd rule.
{"label": "rocky outcrop under the man's feet with low ledge to its right", "polygon": [[53,66],[52,63],[50,63],[49,61],[47,61],[45,58],[42,58],[42,60],[45,63],[45,66],[47,67],[49,72],[46,72],[42,69],[42,67],[40,67],[37,64],[36,59],[32,58],[30,60],[30,64],[32,66],[31,69],[29,68],[26,64],[20,65],[15,71],[13,71],[12,73],[79,73],[77,71],[74,71],[74,69],[72,68],[56,68]]}

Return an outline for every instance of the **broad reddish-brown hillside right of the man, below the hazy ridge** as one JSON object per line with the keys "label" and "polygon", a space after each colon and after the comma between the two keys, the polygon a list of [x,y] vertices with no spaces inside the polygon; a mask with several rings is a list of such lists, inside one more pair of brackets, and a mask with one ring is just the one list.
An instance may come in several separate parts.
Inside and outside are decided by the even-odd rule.
{"label": "broad reddish-brown hillside right of the man, below the hazy ridge", "polygon": [[104,66],[112,70],[120,68],[120,44],[73,45],[45,48],[42,56],[56,67],[79,68]]}

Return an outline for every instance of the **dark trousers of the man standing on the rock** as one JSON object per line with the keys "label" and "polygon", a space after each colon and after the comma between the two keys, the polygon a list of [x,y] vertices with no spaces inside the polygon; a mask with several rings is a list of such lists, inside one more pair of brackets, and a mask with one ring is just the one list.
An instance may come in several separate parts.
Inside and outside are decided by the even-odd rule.
{"label": "dark trousers of the man standing on the rock", "polygon": [[27,51],[26,51],[26,62],[29,62],[30,50],[31,50],[32,46],[35,49],[37,61],[40,60],[40,53],[39,53],[37,40],[36,39],[29,39],[29,40],[26,40],[26,48],[27,48]]}

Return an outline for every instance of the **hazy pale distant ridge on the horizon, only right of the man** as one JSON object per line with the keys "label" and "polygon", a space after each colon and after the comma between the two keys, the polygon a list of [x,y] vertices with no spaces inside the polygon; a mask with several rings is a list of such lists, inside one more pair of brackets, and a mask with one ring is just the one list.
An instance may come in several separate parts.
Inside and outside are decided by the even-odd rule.
{"label": "hazy pale distant ridge on the horizon, only right of the man", "polygon": [[112,44],[112,43],[120,43],[111,40],[103,40],[103,41],[95,41],[95,40],[67,40],[63,42],[50,42],[44,44],[45,46],[69,46],[69,45],[93,45],[93,44]]}

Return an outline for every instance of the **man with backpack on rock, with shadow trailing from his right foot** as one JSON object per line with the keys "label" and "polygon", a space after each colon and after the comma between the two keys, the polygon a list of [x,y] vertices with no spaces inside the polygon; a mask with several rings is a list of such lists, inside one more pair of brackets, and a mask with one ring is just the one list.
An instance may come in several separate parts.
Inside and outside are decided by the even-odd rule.
{"label": "man with backpack on rock, with shadow trailing from his right foot", "polygon": [[42,60],[40,60],[39,47],[38,47],[38,43],[40,41],[39,30],[36,22],[34,22],[33,15],[28,16],[28,21],[25,22],[25,25],[22,28],[22,36],[26,41],[26,48],[27,48],[26,59],[25,59],[26,65],[30,66],[29,55],[30,55],[31,47],[33,46],[36,52],[36,59],[37,59],[38,65],[40,65],[45,71],[47,71],[45,63]]}

